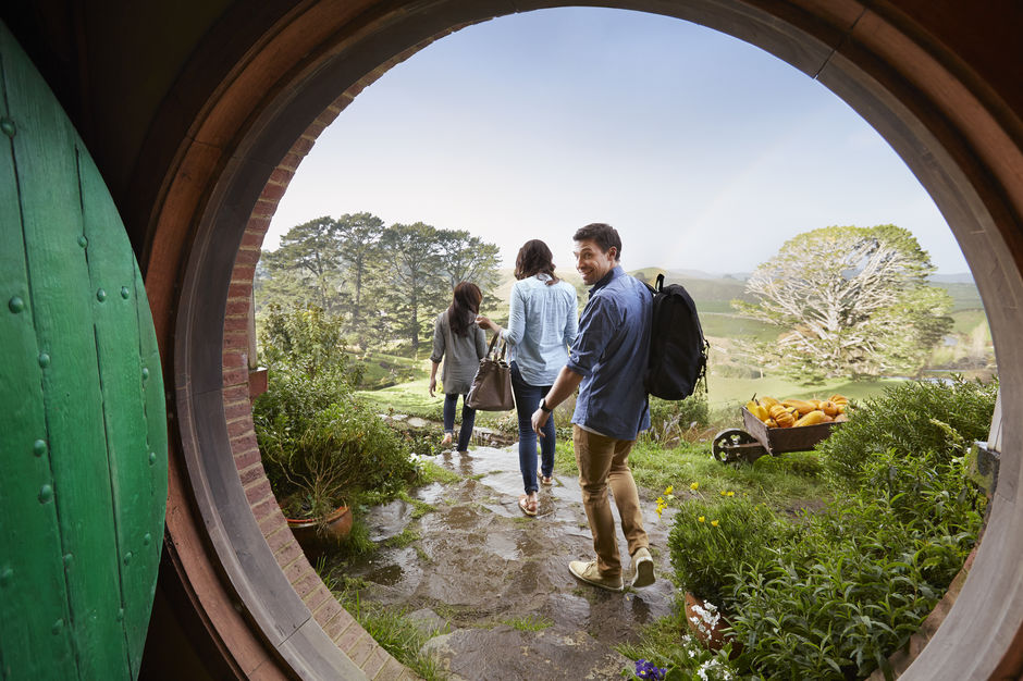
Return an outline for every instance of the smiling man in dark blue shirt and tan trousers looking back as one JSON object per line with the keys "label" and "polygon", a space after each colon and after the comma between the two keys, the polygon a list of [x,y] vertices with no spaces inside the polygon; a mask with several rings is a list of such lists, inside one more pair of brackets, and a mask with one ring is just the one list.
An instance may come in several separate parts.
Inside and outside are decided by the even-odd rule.
{"label": "smiling man in dark blue shirt and tan trousers looking back", "polygon": [[554,407],[579,388],[571,419],[572,444],[596,560],[572,560],[568,569],[594,586],[623,590],[615,520],[607,499],[611,486],[632,556],[631,584],[649,586],[654,582],[654,564],[629,470],[629,451],[639,432],[650,428],[643,374],[653,297],[618,264],[621,238],[614,227],[590,224],[578,230],[572,239],[576,269],[592,286],[590,300],[579,320],[568,363],[533,412],[532,425],[542,436],[541,429]]}

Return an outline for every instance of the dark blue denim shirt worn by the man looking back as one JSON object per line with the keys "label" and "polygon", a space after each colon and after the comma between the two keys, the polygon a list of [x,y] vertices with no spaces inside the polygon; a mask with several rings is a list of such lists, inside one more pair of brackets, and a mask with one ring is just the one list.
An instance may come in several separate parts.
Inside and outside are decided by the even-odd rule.
{"label": "dark blue denim shirt worn by the man looking back", "polygon": [[615,439],[650,428],[643,375],[653,296],[616,265],[590,289],[568,368],[582,375],[571,422]]}

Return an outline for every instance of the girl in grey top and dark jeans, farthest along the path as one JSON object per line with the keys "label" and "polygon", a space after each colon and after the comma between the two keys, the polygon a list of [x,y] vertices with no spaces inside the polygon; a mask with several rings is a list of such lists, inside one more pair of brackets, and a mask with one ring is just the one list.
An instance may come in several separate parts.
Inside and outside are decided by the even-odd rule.
{"label": "girl in grey top and dark jeans, farthest along the path", "polygon": [[466,406],[466,395],[472,387],[472,379],[480,368],[480,359],[486,355],[486,334],[476,324],[483,294],[480,287],[469,282],[455,286],[451,307],[441,312],[433,324],[433,354],[430,360],[430,397],[436,389],[436,369],[444,359],[441,372],[441,389],[444,391],[444,439],[443,446],[452,444],[455,433],[455,408],[461,395],[461,430],[458,431],[458,451],[469,450],[469,438],[476,422],[476,409]]}

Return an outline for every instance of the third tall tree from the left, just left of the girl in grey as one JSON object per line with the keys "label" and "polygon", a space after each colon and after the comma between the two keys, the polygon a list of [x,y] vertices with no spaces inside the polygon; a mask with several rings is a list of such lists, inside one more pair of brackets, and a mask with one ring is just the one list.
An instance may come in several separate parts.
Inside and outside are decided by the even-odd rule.
{"label": "third tall tree from the left, just left of the girl in grey", "polygon": [[446,289],[437,245],[437,231],[421,222],[394,224],[384,230],[380,247],[386,265],[377,274],[377,296],[389,325],[419,354],[419,337],[428,311],[446,306]]}

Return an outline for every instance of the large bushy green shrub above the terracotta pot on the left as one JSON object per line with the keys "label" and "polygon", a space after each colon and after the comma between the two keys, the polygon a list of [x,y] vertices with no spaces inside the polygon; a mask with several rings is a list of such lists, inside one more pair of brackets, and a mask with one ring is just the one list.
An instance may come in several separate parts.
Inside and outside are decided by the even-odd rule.
{"label": "large bushy green shrub above the terracotta pot on the left", "polygon": [[419,469],[352,384],[338,320],[272,307],[261,333],[268,391],[252,405],[267,478],[293,517],[318,517],[359,490],[397,492]]}

